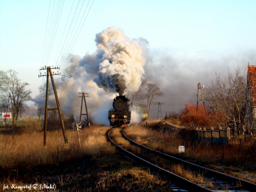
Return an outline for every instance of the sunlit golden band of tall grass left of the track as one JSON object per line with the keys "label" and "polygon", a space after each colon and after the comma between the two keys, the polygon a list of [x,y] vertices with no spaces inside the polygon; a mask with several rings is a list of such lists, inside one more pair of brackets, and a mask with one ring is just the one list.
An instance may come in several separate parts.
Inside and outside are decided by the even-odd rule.
{"label": "sunlit golden band of tall grass left of the track", "polygon": [[47,146],[43,147],[42,132],[24,133],[21,135],[0,135],[0,166],[18,168],[58,164],[84,155],[114,153],[115,147],[106,141],[105,133],[109,127],[94,127],[81,131],[81,147],[77,142],[75,130],[67,130],[67,138],[71,149],[64,148],[62,131],[47,133]]}

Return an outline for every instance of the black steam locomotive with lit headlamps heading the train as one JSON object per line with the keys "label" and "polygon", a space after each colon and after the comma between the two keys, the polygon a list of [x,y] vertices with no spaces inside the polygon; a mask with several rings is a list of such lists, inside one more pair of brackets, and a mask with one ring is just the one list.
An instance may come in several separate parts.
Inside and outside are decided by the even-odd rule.
{"label": "black steam locomotive with lit headlamps heading the train", "polygon": [[131,122],[130,100],[124,95],[116,96],[113,100],[115,111],[109,111],[110,125],[112,127],[128,126]]}

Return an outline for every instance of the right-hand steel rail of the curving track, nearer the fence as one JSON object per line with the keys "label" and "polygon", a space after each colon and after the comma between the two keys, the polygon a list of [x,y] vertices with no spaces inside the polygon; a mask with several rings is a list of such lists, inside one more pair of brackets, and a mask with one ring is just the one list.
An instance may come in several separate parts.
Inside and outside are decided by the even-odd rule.
{"label": "right-hand steel rail of the curving track, nearer the fence", "polygon": [[221,173],[221,172],[217,172],[216,170],[212,170],[212,169],[203,167],[203,166],[201,166],[201,165],[197,165],[197,164],[195,164],[195,163],[191,163],[191,162],[188,162],[188,161],[179,159],[179,158],[177,158],[177,157],[170,156],[170,155],[168,155],[168,154],[165,154],[165,153],[156,151],[156,150],[154,150],[153,148],[150,148],[150,147],[147,147],[147,146],[145,146],[145,145],[142,145],[142,144],[140,144],[140,143],[138,143],[138,142],[136,142],[136,141],[130,139],[129,137],[127,137],[127,136],[124,134],[124,129],[125,129],[125,127],[124,127],[123,130],[122,130],[123,136],[124,136],[127,140],[131,141],[132,143],[134,143],[134,144],[136,144],[136,145],[138,145],[138,146],[140,146],[140,147],[147,148],[147,149],[150,150],[150,151],[156,152],[156,153],[158,153],[158,154],[160,154],[160,155],[166,156],[166,157],[168,157],[168,158],[170,158],[170,159],[173,159],[173,160],[175,160],[175,161],[182,162],[182,163],[184,163],[184,164],[186,164],[186,165],[193,166],[193,167],[197,167],[197,168],[199,168],[199,169],[201,169],[201,170],[205,170],[205,171],[208,172],[208,173],[214,174],[215,176],[218,176],[218,177],[221,177],[221,178],[228,179],[228,180],[231,181],[231,182],[235,181],[236,183],[240,183],[240,184],[242,184],[243,187],[245,187],[245,189],[247,189],[247,190],[251,190],[251,191],[255,191],[255,190],[256,190],[256,184],[255,184],[255,183],[251,183],[251,182],[249,182],[249,181],[246,181],[246,180],[243,180],[243,179],[240,179],[240,178],[237,178],[237,177],[233,177],[233,176],[230,176],[230,175]]}

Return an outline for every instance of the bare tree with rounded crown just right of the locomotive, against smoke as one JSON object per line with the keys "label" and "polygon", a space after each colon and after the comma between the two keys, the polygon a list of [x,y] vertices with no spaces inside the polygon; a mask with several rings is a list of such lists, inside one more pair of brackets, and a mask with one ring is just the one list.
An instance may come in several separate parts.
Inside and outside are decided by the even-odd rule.
{"label": "bare tree with rounded crown just right of the locomotive, against smoke", "polygon": [[152,106],[152,101],[156,97],[163,96],[163,92],[160,91],[159,87],[157,87],[154,83],[148,83],[146,80],[143,80],[140,86],[139,91],[135,92],[134,97],[135,100],[145,100],[147,101],[147,109],[148,109],[148,118],[150,118],[150,109]]}

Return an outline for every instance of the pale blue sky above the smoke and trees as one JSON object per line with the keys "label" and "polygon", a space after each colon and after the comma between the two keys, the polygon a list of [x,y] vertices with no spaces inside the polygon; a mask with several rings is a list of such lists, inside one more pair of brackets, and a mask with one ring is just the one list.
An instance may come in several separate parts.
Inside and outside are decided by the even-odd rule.
{"label": "pale blue sky above the smoke and trees", "polygon": [[[59,56],[56,50],[72,3],[66,0],[63,6],[50,65]],[[49,0],[0,0],[0,69],[16,70],[20,79],[30,83],[33,96],[45,81],[37,76],[49,5]],[[198,58],[232,58],[242,66],[248,61],[256,65],[251,56],[256,50],[255,18],[256,1],[95,0],[71,53],[93,53],[95,34],[114,26],[129,38],[145,38],[151,52],[173,59],[185,57],[195,63]]]}

